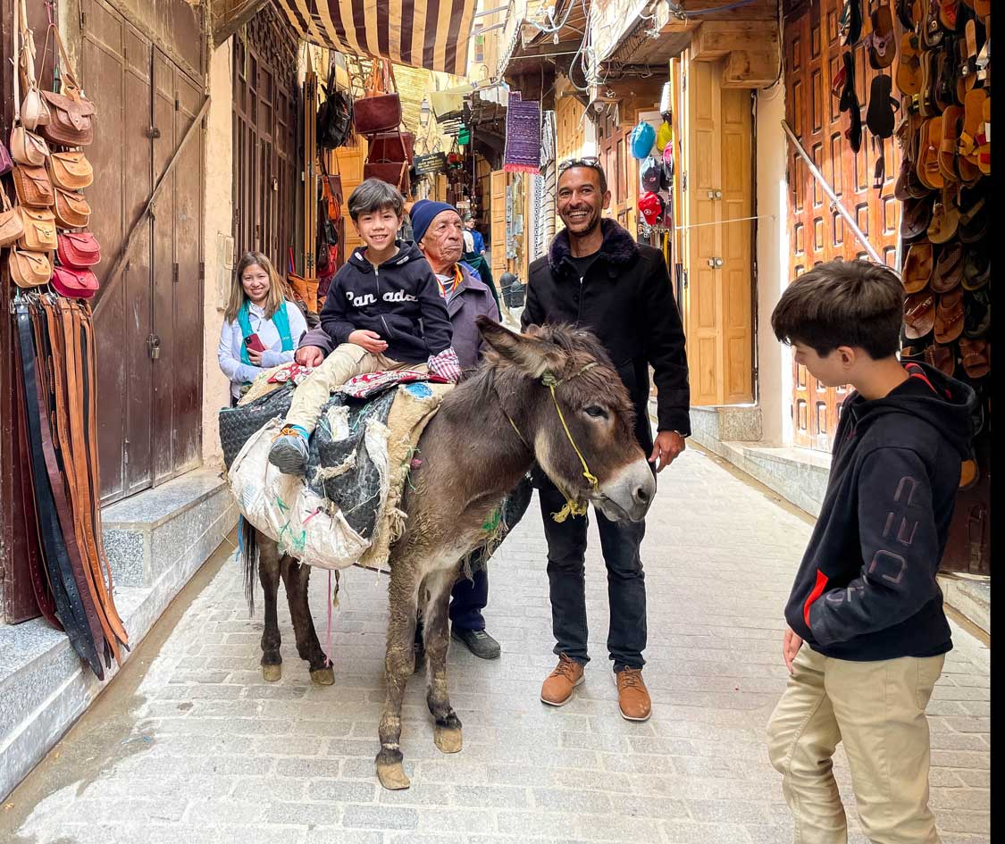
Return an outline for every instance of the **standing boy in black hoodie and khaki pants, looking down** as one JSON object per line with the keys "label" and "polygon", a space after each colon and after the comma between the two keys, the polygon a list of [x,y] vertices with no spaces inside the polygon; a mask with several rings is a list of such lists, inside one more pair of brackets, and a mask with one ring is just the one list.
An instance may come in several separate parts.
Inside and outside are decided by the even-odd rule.
{"label": "standing boy in black hoodie and khaki pants, looking down", "polygon": [[790,677],[768,724],[802,844],[847,841],[831,773],[838,742],[870,841],[940,841],[925,707],[953,643],[936,571],[976,397],[936,369],[901,366],[902,306],[887,267],[837,260],[794,281],[771,318],[775,336],[821,384],[854,387],[785,608]]}

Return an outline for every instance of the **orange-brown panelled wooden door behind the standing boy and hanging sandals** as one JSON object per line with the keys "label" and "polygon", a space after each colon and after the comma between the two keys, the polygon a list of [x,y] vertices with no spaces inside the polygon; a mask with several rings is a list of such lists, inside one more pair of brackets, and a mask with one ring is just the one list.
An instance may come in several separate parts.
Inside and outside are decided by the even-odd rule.
{"label": "orange-brown panelled wooden door behind the standing boy and hanging sandals", "polygon": [[[893,184],[900,165],[899,149],[892,139],[881,146],[874,143],[863,127],[862,147],[855,154],[844,137],[848,117],[841,114],[838,98],[830,92],[831,80],[843,66],[844,48],[838,30],[841,7],[841,0],[818,0],[786,17],[786,119],[841,204],[854,216],[858,228],[883,260],[893,266],[899,227],[899,203],[893,197]],[[895,16],[894,27],[899,43]],[[864,46],[855,49],[854,57],[855,90],[863,107],[864,123],[869,86],[878,71],[869,66]],[[895,62],[888,72],[895,74]],[[885,154],[885,179],[876,189],[872,187],[873,171],[880,152]],[[853,260],[866,255],[791,145],[788,180],[791,277],[832,258]],[[845,388],[827,389],[805,367],[793,364],[796,444],[830,451],[846,397]]]}

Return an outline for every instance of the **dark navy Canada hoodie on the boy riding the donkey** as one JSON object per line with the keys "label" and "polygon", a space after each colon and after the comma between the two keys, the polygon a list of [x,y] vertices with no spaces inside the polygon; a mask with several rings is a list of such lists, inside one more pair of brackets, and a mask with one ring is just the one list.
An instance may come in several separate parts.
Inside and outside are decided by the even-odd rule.
{"label": "dark navy Canada hoodie on the boy riding the donkey", "polygon": [[384,354],[402,364],[424,364],[450,347],[453,330],[436,276],[419,247],[398,241],[398,254],[374,267],[354,249],[332,279],[321,326],[336,345],[357,331],[376,332]]}

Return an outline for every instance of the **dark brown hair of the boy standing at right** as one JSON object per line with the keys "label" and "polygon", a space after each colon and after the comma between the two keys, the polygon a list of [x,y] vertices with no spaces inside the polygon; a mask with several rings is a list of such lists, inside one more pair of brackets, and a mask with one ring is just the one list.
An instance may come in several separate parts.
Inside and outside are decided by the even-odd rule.
{"label": "dark brown hair of the boy standing at right", "polygon": [[802,343],[821,358],[839,346],[875,361],[900,348],[903,285],[885,264],[840,259],[804,272],[782,293],[771,328],[782,343]]}

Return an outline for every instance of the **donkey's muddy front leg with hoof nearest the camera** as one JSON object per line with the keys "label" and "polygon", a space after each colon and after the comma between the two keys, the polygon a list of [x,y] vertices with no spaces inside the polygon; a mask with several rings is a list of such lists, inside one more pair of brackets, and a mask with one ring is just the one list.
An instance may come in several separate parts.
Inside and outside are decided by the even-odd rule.
{"label": "donkey's muddy front leg with hoof nearest the camera", "polygon": [[407,789],[411,782],[402,765],[401,701],[405,683],[415,670],[415,613],[418,608],[416,567],[399,560],[391,566],[389,589],[390,617],[387,623],[387,651],[384,656],[384,681],[387,697],[380,719],[380,753],[377,776],[386,789]]}

